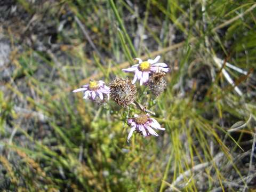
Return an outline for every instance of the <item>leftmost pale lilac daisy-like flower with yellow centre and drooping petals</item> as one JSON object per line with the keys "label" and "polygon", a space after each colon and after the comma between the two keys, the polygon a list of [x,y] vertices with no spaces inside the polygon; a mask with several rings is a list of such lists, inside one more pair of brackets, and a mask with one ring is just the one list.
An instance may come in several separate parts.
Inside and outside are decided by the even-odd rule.
{"label": "leftmost pale lilac daisy-like flower with yellow centre and drooping petals", "polygon": [[89,84],[83,85],[81,88],[76,89],[73,93],[83,91],[83,99],[91,99],[93,101],[103,101],[104,99],[109,99],[110,89],[105,85],[103,81],[90,80]]}

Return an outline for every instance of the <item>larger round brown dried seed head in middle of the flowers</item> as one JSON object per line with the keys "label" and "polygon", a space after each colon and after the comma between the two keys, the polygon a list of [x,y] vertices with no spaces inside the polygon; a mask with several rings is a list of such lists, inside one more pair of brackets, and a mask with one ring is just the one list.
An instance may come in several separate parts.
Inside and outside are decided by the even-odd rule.
{"label": "larger round brown dried seed head in middle of the flowers", "polygon": [[136,86],[130,79],[116,77],[109,84],[110,97],[120,106],[129,106],[135,99]]}

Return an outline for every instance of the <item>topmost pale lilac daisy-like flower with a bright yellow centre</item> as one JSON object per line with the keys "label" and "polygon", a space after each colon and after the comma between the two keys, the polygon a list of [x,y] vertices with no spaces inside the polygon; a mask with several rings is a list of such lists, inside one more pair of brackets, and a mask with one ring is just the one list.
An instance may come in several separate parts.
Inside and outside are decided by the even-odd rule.
{"label": "topmost pale lilac daisy-like flower with a bright yellow centre", "polygon": [[142,61],[140,58],[135,58],[135,60],[138,60],[139,64],[133,65],[130,68],[122,69],[125,72],[133,72],[134,78],[132,81],[132,84],[134,84],[137,79],[140,81],[140,85],[145,84],[148,82],[149,74],[153,72],[168,72],[169,68],[166,65],[166,63],[157,62],[160,59],[160,56],[158,55],[154,60],[148,59],[147,61]]}

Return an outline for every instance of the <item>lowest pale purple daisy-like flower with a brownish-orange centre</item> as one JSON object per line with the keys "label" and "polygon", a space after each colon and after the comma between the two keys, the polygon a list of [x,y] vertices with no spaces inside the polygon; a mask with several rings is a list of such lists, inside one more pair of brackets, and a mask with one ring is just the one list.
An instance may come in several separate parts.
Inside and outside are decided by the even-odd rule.
{"label": "lowest pale purple daisy-like flower with a brownish-orange centre", "polygon": [[133,118],[127,120],[127,123],[132,127],[127,137],[128,142],[132,137],[133,131],[140,133],[143,137],[147,137],[149,135],[158,136],[154,129],[165,130],[156,119],[149,117],[149,114],[134,115]]}

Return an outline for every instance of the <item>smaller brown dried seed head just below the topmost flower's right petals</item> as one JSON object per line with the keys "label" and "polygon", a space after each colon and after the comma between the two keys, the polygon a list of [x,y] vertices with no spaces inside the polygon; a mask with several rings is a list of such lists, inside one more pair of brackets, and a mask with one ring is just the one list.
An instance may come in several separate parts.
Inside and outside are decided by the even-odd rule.
{"label": "smaller brown dried seed head just below the topmost flower's right petals", "polygon": [[165,76],[166,74],[163,72],[153,73],[149,76],[149,88],[156,97],[161,95],[166,88]]}

